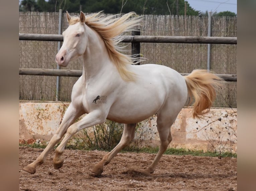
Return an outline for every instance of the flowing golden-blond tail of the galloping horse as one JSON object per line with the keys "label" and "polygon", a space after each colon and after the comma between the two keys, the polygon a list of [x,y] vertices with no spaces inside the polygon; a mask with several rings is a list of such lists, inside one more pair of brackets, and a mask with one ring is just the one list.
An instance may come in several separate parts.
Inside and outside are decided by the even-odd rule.
{"label": "flowing golden-blond tail of the galloping horse", "polygon": [[189,105],[193,101],[193,118],[203,118],[210,111],[216,98],[216,91],[222,86],[222,78],[214,75],[207,70],[193,70],[188,76],[184,76]]}

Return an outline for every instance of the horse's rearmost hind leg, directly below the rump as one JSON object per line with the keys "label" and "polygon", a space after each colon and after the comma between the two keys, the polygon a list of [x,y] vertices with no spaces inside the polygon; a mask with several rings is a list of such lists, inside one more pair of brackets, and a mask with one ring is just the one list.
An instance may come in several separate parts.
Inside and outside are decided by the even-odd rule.
{"label": "horse's rearmost hind leg, directly below the rump", "polygon": [[160,160],[162,154],[166,151],[169,143],[172,140],[172,136],[171,136],[171,125],[173,124],[173,122],[175,121],[176,117],[170,119],[171,117],[169,116],[168,118],[164,118],[162,116],[157,116],[157,131],[159,133],[159,138],[160,138],[160,147],[159,147],[159,151],[156,154],[153,162],[151,163],[151,165],[144,170],[144,173],[146,174],[150,174],[153,173],[155,171],[155,167],[158,163],[158,161]]}

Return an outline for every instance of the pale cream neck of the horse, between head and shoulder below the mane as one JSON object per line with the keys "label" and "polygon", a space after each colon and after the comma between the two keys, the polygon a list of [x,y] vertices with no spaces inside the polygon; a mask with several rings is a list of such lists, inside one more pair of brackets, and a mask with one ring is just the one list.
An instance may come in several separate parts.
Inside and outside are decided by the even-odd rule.
{"label": "pale cream neck of the horse, between head and shoulder below the mane", "polygon": [[108,55],[105,43],[99,34],[86,26],[88,32],[88,44],[83,55],[83,75],[85,80],[97,78],[107,71],[112,70],[113,64]]}

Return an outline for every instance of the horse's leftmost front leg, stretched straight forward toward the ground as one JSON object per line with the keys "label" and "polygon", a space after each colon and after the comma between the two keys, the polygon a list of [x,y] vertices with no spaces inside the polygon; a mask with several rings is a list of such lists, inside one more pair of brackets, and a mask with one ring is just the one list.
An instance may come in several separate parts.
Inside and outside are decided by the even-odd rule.
{"label": "horse's leftmost front leg, stretched straight forward toward the ground", "polygon": [[83,111],[78,110],[72,103],[69,105],[67,111],[65,112],[63,119],[56,130],[55,134],[52,136],[50,142],[43,150],[43,152],[37,157],[37,159],[28,164],[23,168],[26,172],[30,174],[34,174],[36,171],[36,167],[42,164],[49,154],[49,152],[53,149],[53,147],[57,144],[57,142],[62,138],[62,136],[66,133],[68,127],[77,119],[79,116],[83,114]]}

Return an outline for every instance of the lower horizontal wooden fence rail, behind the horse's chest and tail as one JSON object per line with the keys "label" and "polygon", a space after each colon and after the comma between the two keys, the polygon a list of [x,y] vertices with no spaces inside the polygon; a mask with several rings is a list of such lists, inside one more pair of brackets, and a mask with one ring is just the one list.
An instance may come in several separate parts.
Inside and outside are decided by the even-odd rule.
{"label": "lower horizontal wooden fence rail, behind the horse's chest and tail", "polygon": [[[35,75],[35,76],[69,76],[80,77],[82,76],[82,70],[64,70],[64,69],[40,69],[40,68],[20,68],[19,75]],[[186,76],[189,73],[180,73],[182,76]],[[235,74],[217,74],[227,82],[237,82],[237,75]]]}

